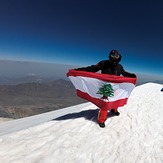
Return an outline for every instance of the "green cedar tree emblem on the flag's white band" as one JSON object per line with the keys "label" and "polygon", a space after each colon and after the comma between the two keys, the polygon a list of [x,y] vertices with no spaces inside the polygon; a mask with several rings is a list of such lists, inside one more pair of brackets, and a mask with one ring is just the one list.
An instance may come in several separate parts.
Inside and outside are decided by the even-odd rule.
{"label": "green cedar tree emblem on the flag's white band", "polygon": [[111,84],[107,83],[99,88],[97,94],[103,95],[102,99],[108,99],[108,97],[114,96],[114,89]]}

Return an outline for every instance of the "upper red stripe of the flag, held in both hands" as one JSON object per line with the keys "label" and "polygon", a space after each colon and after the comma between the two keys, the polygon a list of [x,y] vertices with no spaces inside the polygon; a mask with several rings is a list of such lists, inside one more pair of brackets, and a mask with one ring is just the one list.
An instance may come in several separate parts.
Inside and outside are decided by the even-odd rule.
{"label": "upper red stripe of the flag, held in both hands", "polygon": [[69,76],[82,76],[82,77],[90,77],[90,78],[96,78],[99,80],[103,80],[106,82],[112,82],[112,83],[133,83],[136,84],[136,78],[129,78],[129,77],[122,77],[117,75],[109,75],[109,74],[100,74],[100,73],[94,73],[94,72],[87,72],[87,71],[78,71],[71,69],[67,73],[67,77]]}

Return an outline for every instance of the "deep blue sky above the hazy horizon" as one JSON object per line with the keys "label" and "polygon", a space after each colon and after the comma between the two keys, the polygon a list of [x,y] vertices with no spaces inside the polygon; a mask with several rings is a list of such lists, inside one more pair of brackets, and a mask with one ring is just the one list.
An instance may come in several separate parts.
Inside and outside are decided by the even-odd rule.
{"label": "deep blue sky above the hazy horizon", "polygon": [[79,66],[122,54],[127,71],[163,75],[161,0],[1,0],[0,59]]}

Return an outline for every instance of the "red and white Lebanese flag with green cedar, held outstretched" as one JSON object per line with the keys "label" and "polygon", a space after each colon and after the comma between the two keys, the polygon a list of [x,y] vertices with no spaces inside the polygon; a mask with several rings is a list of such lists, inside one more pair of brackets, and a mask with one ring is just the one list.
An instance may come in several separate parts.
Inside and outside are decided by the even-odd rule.
{"label": "red and white Lebanese flag with green cedar, held outstretched", "polygon": [[79,97],[106,110],[127,104],[136,84],[136,78],[73,69],[67,73],[67,77],[73,83]]}

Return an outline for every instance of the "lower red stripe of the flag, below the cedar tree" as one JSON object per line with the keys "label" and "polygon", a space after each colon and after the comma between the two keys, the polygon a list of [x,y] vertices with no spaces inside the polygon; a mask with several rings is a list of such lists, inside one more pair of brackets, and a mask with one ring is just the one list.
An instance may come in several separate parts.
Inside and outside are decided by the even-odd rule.
{"label": "lower red stripe of the flag, below the cedar tree", "polygon": [[113,108],[118,108],[118,107],[124,106],[128,100],[128,98],[125,98],[125,99],[120,99],[117,101],[105,102],[102,99],[91,97],[89,94],[87,94],[85,92],[81,92],[80,90],[76,90],[76,92],[79,97],[84,98],[84,99],[92,102],[93,104],[95,104],[97,107],[106,109],[106,110],[111,110]]}

